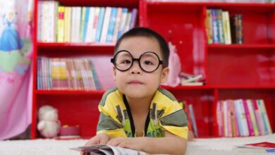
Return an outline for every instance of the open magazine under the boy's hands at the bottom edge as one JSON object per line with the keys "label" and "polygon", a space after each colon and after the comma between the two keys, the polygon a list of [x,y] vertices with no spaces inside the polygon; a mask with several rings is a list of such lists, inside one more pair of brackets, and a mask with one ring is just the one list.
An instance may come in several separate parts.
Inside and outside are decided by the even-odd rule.
{"label": "open magazine under the boy's hands at the bottom edge", "polygon": [[90,154],[106,154],[106,155],[123,155],[123,154],[133,154],[133,155],[147,155],[143,151],[136,151],[133,149],[125,149],[122,147],[113,147],[110,145],[104,145],[104,144],[97,144],[97,145],[92,145],[92,146],[87,146],[87,147],[76,147],[76,148],[71,148],[75,151],[81,151],[81,152],[90,152]]}

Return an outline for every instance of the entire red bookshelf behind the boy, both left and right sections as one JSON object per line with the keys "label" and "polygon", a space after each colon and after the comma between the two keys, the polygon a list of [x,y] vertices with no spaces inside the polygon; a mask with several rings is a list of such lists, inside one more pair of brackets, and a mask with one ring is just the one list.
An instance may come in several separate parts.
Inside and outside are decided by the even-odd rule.
{"label": "entire red bookshelf behind the boy, both left and right sections", "polygon": [[[138,8],[140,26],[156,30],[178,49],[181,71],[202,74],[203,86],[161,86],[177,99],[193,104],[200,137],[217,137],[216,102],[221,99],[264,99],[273,132],[275,131],[275,4],[207,2],[147,2],[145,0],[59,0],[64,6],[121,6]],[[243,14],[244,44],[207,44],[204,18],[207,8],[222,8],[229,15]],[[37,42],[37,0],[35,0],[34,86],[32,139],[37,110],[49,104],[59,110],[61,124],[80,125],[81,137],[95,135],[97,106],[105,90],[37,90],[37,56],[110,57],[114,44],[73,44]],[[106,61],[109,63],[109,61]],[[104,66],[102,66],[104,67]],[[110,70],[111,71],[111,70]],[[104,81],[103,81],[104,82]]]}

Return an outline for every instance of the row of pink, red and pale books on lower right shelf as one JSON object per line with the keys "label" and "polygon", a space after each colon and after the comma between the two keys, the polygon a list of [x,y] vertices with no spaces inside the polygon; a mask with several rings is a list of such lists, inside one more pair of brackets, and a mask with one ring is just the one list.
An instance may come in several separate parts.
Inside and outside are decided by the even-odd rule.
{"label": "row of pink, red and pale books on lower right shelf", "polygon": [[228,99],[217,102],[216,122],[221,137],[272,133],[263,99]]}

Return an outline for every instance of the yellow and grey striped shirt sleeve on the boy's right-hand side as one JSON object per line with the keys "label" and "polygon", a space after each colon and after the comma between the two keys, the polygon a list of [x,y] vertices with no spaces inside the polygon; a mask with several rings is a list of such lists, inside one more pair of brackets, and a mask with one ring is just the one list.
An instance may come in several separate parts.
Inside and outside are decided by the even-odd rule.
{"label": "yellow and grey striped shirt sleeve on the boy's right-hand side", "polygon": [[167,108],[165,113],[166,114],[159,119],[161,128],[187,140],[188,120],[181,106],[174,104],[174,106]]}

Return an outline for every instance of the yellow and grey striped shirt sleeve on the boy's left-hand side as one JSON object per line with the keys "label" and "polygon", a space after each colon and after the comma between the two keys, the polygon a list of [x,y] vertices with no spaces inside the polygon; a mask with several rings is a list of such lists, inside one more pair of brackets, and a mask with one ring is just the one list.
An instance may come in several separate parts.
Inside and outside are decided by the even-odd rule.
{"label": "yellow and grey striped shirt sleeve on the boy's left-hand side", "polygon": [[123,125],[116,118],[116,111],[108,104],[99,105],[99,123],[97,124],[97,134],[106,133],[109,137],[127,137],[123,130]]}

